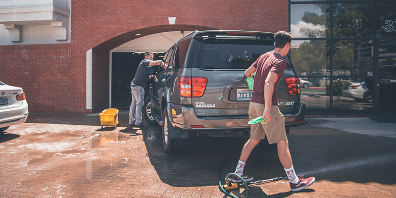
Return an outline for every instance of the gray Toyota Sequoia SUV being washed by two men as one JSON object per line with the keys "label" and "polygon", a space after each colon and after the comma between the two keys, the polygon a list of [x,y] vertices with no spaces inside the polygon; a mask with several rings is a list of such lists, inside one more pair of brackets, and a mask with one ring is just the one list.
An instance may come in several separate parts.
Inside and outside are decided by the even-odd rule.
{"label": "gray Toyota Sequoia SUV being washed by two men", "polygon": [[[275,49],[273,33],[251,31],[194,31],[177,41],[162,61],[148,67],[156,75],[145,99],[144,115],[162,125],[165,152],[178,153],[184,140],[200,134],[211,137],[248,136],[249,90],[244,71],[265,52]],[[290,62],[278,86],[278,105],[289,127],[300,126],[305,104]],[[267,143],[268,144],[268,143]]]}

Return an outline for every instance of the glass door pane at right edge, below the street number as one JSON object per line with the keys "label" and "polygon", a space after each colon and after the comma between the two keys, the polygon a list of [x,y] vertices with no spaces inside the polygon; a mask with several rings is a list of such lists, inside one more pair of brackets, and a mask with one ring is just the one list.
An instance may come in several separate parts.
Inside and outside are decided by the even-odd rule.
{"label": "glass door pane at right edge, below the street number", "polygon": [[396,114],[396,40],[379,41],[379,115]]}

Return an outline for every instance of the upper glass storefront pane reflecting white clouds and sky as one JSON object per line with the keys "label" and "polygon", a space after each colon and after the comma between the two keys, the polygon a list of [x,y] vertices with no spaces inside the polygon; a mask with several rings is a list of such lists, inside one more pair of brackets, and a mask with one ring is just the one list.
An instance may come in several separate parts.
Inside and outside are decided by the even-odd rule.
{"label": "upper glass storefront pane reflecting white clouds and sky", "polygon": [[294,38],[329,37],[329,4],[292,4],[290,7],[290,29]]}

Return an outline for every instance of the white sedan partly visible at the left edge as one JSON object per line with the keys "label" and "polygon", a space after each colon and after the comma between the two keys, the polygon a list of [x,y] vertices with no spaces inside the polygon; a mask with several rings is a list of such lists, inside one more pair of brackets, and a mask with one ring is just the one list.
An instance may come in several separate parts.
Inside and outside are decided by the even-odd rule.
{"label": "white sedan partly visible at the left edge", "polygon": [[0,82],[0,135],[9,126],[26,122],[28,103],[20,87]]}

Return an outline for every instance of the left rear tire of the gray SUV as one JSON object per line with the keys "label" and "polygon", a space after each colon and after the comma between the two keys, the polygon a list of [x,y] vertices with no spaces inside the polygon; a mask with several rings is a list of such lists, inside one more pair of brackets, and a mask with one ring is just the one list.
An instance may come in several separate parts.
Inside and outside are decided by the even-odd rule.
{"label": "left rear tire of the gray SUV", "polygon": [[184,146],[184,139],[172,139],[170,137],[173,130],[168,111],[165,108],[162,113],[162,142],[164,144],[165,153],[168,155],[180,154]]}

